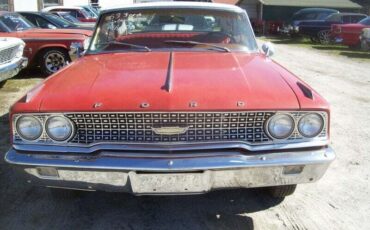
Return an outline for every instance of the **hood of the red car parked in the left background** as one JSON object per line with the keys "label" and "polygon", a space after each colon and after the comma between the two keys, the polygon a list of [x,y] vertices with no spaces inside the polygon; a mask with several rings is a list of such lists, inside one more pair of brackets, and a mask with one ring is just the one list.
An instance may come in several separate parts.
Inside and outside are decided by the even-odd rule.
{"label": "hood of the red car parked in the left background", "polygon": [[92,31],[83,30],[83,29],[30,29],[23,32],[27,37],[43,38],[50,36],[74,36],[74,35],[83,35],[90,37]]}

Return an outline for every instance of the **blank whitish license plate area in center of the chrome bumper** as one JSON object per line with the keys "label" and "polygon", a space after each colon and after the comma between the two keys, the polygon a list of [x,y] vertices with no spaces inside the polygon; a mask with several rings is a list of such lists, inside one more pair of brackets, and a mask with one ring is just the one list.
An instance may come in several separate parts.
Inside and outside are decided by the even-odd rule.
{"label": "blank whitish license plate area in center of the chrome bumper", "polygon": [[129,173],[136,194],[203,193],[209,190],[210,173]]}

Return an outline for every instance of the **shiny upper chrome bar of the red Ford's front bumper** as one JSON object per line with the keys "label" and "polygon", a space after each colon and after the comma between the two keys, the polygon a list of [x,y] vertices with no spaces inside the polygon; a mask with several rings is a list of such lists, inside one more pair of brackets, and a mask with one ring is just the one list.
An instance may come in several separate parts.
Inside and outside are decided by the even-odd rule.
{"label": "shiny upper chrome bar of the red Ford's front bumper", "polygon": [[[248,167],[318,165],[329,164],[335,159],[330,147],[319,150],[278,152],[265,154],[243,155],[238,151],[215,152],[216,156],[188,158],[138,158],[138,157],[106,157],[103,152],[96,157],[65,156],[43,154],[21,154],[11,148],[5,155],[5,161],[14,165],[35,167],[57,167],[78,169],[103,169],[125,171],[196,171],[216,169],[236,169]],[[223,154],[223,156],[220,154]]]}

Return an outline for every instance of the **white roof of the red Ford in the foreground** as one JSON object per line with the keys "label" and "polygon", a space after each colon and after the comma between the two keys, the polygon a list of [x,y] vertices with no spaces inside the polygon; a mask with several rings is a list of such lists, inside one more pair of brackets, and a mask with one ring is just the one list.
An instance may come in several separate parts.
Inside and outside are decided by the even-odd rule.
{"label": "white roof of the red Ford in the foreground", "polygon": [[167,8],[189,8],[189,9],[209,9],[209,10],[223,10],[232,11],[236,13],[245,12],[242,8],[222,3],[212,2],[148,2],[137,3],[131,5],[122,5],[115,7],[104,8],[101,13],[116,12],[119,10],[135,10],[135,9],[167,9]]}

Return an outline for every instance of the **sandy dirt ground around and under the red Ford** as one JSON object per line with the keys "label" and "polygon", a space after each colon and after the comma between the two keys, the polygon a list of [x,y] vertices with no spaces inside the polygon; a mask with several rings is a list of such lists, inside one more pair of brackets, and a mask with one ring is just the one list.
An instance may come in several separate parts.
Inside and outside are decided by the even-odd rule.
{"label": "sandy dirt ground around and under the red Ford", "polygon": [[260,189],[171,197],[99,192],[53,199],[47,189],[23,183],[3,161],[9,105],[40,81],[26,73],[0,89],[0,228],[370,229],[370,62],[294,45],[275,48],[274,59],[332,106],[337,159],[318,183],[298,186],[281,203]]}

